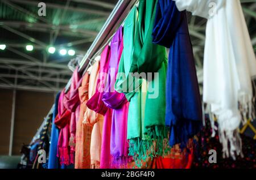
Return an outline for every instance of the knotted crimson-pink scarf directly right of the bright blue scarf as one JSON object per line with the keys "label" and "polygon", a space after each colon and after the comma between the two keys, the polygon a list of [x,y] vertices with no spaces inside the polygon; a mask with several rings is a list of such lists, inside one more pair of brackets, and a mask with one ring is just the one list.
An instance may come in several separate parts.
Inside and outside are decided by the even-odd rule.
{"label": "knotted crimson-pink scarf directly right of the bright blue scarf", "polygon": [[69,124],[71,119],[71,112],[67,110],[63,104],[64,90],[60,93],[58,114],[55,118],[55,125],[60,128],[60,134],[57,145],[57,157],[60,158],[61,165],[71,164],[71,155],[69,149]]}

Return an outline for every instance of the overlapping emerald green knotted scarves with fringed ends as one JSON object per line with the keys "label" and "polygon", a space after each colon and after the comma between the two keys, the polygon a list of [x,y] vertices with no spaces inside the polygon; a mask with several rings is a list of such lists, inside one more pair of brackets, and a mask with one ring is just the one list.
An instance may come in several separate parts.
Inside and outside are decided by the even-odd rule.
{"label": "overlapping emerald green knotted scarves with fringed ends", "polygon": [[[163,46],[152,44],[151,36],[156,2],[141,0],[138,10],[134,7],[127,16],[118,69],[125,76],[118,74],[115,82],[115,90],[125,93],[130,101],[127,139],[137,166],[148,156],[162,156],[169,149],[165,126],[167,55]],[[152,72],[153,79],[131,76],[129,72]],[[151,98],[154,94],[158,96]]]}

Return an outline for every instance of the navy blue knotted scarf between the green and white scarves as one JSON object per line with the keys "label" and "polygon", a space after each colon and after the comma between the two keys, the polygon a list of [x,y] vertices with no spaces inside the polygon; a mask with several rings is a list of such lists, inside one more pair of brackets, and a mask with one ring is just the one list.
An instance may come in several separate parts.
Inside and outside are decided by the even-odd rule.
{"label": "navy blue knotted scarf between the green and white scarves", "polygon": [[200,130],[202,106],[185,11],[159,0],[152,32],[155,44],[170,48],[166,82],[166,126],[170,145],[185,145]]}

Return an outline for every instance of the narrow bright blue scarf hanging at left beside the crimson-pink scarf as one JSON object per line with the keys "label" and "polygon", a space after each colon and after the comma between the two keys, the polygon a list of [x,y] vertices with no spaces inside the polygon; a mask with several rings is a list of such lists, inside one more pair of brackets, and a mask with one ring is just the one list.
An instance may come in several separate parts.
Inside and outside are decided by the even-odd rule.
{"label": "narrow bright blue scarf hanging at left beside the crimson-pink scarf", "polygon": [[54,110],[52,114],[52,127],[51,127],[51,143],[49,146],[49,160],[48,169],[59,169],[59,159],[57,158],[57,143],[59,139],[59,129],[54,123],[54,119],[58,114],[58,104],[59,104],[60,92],[57,93],[55,98]]}

